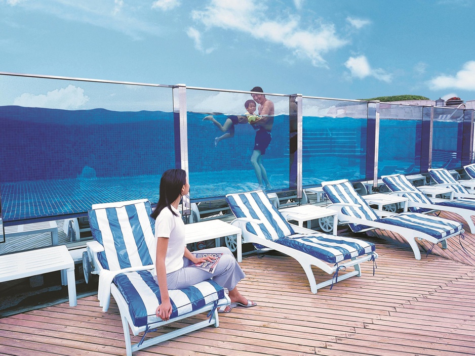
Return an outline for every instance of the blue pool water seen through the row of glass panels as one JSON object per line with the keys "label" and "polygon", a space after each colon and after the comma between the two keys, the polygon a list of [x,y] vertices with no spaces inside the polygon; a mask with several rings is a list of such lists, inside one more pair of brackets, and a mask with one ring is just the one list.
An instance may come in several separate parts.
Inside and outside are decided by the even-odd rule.
{"label": "blue pool water seen through the row of glass panels", "polygon": [[[250,163],[252,126],[236,125],[234,137],[215,147],[223,132],[203,121],[205,116],[188,112],[191,199],[257,189]],[[216,119],[224,123],[226,116]],[[172,112],[3,106],[0,120],[6,222],[84,214],[101,202],[148,198],[155,203],[161,174],[180,162],[179,122]],[[460,165],[447,158],[453,152],[460,157],[461,140],[453,140],[460,132],[461,123],[434,122],[433,148],[438,151],[433,159],[440,164],[449,160],[448,168]],[[304,116],[302,155],[304,187],[336,179],[365,180],[367,120]],[[381,120],[379,158],[383,174],[394,166],[407,173],[410,167],[411,172],[420,170],[419,121]],[[278,115],[262,160],[272,189],[289,190],[295,183],[290,160],[289,116]]]}

